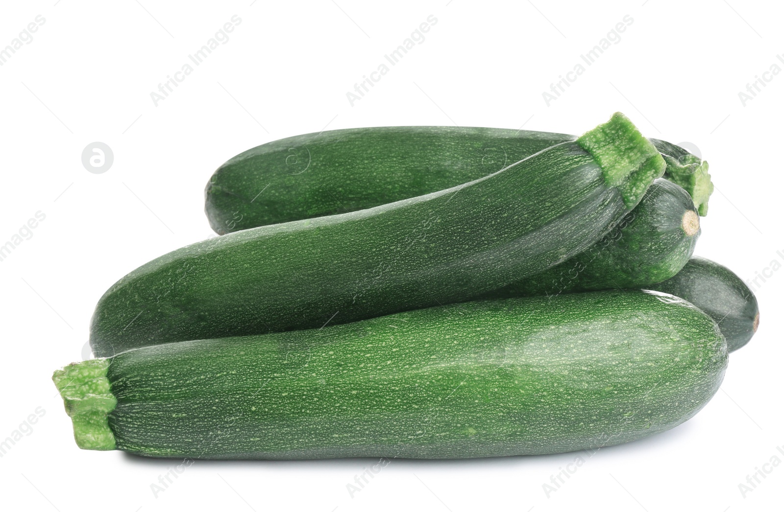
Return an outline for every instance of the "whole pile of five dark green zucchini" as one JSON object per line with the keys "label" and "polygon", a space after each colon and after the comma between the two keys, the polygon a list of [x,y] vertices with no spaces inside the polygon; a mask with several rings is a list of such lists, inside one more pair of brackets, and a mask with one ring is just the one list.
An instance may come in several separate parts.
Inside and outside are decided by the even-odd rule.
{"label": "whole pile of five dark green zucchini", "polygon": [[358,128],[205,190],[222,234],[100,298],[54,373],[83,449],[191,459],[596,449],[688,420],[757,330],[693,258],[708,166],[622,114],[576,137]]}

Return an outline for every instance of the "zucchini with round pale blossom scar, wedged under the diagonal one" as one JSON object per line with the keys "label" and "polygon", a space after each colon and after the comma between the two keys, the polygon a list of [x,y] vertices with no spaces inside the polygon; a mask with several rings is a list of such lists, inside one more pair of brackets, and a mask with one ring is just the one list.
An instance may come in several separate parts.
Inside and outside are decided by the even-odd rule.
{"label": "zucchini with round pale blossom scar, wedged under the diagonal one", "polygon": [[482,297],[650,287],[686,265],[700,233],[699,215],[688,193],[657,179],[640,204],[590,249]]}

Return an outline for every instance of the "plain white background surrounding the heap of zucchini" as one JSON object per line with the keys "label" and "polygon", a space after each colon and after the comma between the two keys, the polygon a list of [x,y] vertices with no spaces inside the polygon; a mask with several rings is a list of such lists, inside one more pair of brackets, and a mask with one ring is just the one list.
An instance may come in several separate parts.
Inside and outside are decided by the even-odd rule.
{"label": "plain white background surrounding the heap of zucchini", "polygon": [[[29,240],[0,261],[0,439],[45,411],[0,458],[7,510],[779,510],[784,464],[739,484],[784,445],[781,374],[784,76],[739,92],[784,52],[773,2],[4,2],[0,48],[45,23],[0,67],[0,244],[36,211]],[[241,23],[155,106],[150,93],[238,15]],[[346,93],[427,16],[437,23],[360,101]],[[622,18],[633,23],[561,97],[543,92]],[[615,36],[613,36],[615,37]],[[782,57],[784,58],[784,57]],[[646,135],[691,142],[716,192],[696,254],[753,279],[762,321],[731,355],[695,418],[601,449],[557,492],[543,484],[585,453],[394,460],[353,497],[374,460],[208,462],[188,467],[79,450],[50,380],[82,359],[93,307],[136,266],[212,236],[205,183],[249,147],[324,128],[459,124],[579,133],[615,112]],[[111,146],[103,174],[82,165]],[[782,251],[777,254],[776,251]]]}

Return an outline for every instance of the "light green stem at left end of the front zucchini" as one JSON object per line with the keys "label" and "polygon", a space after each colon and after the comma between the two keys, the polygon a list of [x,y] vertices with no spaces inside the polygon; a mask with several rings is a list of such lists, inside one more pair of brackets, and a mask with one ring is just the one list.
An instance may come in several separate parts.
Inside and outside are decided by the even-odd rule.
{"label": "light green stem at left end of the front zucchini", "polygon": [[117,406],[107,379],[109,359],[72,362],[52,376],[74,424],[74,439],[81,449],[111,450],[116,444],[109,428],[109,413]]}

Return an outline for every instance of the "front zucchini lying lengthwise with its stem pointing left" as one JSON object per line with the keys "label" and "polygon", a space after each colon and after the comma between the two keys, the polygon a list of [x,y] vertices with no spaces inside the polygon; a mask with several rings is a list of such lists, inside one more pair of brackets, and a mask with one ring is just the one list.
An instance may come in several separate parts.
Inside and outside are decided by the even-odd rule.
{"label": "front zucchini lying lengthwise with its stem pointing left", "polygon": [[54,373],[83,449],[191,459],[464,458],[666,431],[719,388],[727,344],[642,290],[437,306],[138,348]]}

